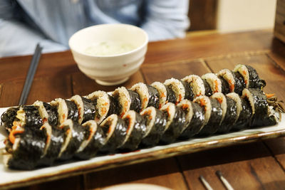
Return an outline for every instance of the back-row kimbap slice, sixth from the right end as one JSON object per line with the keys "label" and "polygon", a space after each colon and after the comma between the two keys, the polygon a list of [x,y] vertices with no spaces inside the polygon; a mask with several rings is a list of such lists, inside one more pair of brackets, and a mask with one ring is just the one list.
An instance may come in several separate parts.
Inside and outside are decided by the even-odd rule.
{"label": "back-row kimbap slice, sixth from the right end", "polygon": [[175,93],[171,88],[168,86],[160,83],[155,82],[151,84],[154,88],[156,88],[157,92],[159,93],[160,102],[158,105],[158,108],[162,107],[163,105],[167,104],[168,102],[175,103],[176,102],[176,96]]}

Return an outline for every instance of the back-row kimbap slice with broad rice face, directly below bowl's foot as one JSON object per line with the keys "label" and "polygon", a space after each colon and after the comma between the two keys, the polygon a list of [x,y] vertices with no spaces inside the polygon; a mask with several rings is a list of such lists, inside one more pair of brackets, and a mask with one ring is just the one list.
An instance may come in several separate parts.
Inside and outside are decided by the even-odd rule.
{"label": "back-row kimbap slice with broad rice face, directly below bowl's foot", "polygon": [[95,105],[95,121],[100,124],[106,117],[118,114],[118,102],[108,93],[98,90],[87,96]]}

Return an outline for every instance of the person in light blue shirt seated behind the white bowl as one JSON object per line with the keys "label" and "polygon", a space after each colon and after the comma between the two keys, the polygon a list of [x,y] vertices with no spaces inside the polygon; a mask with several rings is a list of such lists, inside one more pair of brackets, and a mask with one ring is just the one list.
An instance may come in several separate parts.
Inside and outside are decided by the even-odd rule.
{"label": "person in light blue shirt seated behind the white bowl", "polygon": [[189,0],[1,0],[0,57],[65,51],[76,31],[101,23],[143,28],[150,41],[182,38]]}

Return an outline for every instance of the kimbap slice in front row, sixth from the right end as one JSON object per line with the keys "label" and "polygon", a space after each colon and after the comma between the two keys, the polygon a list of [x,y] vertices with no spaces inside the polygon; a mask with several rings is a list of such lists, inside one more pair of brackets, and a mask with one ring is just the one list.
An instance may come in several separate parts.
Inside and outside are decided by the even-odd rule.
{"label": "kimbap slice in front row, sixth from the right end", "polygon": [[186,125],[185,112],[175,104],[168,102],[160,110],[167,116],[165,131],[162,134],[160,142],[169,144],[175,142],[180,136]]}

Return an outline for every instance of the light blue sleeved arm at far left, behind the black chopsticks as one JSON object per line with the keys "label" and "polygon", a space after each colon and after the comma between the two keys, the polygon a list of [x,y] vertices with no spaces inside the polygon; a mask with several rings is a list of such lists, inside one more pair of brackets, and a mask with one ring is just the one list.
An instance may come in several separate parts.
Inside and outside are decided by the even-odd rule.
{"label": "light blue sleeved arm at far left, behind the black chopsticks", "polygon": [[11,1],[4,0],[0,1],[0,42],[0,57],[32,54],[36,43],[43,46],[43,53],[67,49],[18,21],[14,17]]}

